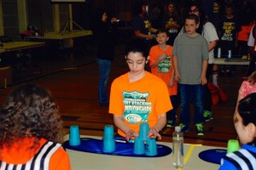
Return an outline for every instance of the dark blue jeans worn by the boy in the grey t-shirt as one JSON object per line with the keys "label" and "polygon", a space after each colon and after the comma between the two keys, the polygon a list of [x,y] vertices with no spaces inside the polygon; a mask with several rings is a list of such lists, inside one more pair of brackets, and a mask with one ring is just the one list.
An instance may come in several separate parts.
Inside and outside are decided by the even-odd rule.
{"label": "dark blue jeans worn by the boy in the grey t-shirt", "polygon": [[205,88],[201,84],[180,84],[178,83],[178,94],[180,97],[180,123],[189,126],[190,103],[195,107],[194,123],[202,123],[204,110]]}

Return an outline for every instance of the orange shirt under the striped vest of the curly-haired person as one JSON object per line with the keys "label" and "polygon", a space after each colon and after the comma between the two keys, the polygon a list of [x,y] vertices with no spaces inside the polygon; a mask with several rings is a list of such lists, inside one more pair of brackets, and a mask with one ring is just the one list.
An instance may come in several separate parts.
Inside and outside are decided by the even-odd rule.
{"label": "orange shirt under the striped vest of the curly-haired person", "polygon": [[[34,138],[20,139],[11,148],[3,146],[3,150],[0,150],[0,160],[9,164],[25,164],[30,161],[33,156],[36,155],[38,150],[48,141],[46,139],[40,139],[37,150],[28,150],[33,144]],[[60,147],[50,157],[49,170],[70,170],[70,161],[66,150]]]}

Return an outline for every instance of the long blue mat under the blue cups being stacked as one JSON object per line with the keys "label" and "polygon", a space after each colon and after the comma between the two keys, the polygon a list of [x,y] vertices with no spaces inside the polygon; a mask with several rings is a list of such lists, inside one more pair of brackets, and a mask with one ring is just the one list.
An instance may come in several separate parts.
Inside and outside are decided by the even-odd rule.
{"label": "long blue mat under the blue cups being stacked", "polygon": [[68,150],[78,150],[96,154],[112,155],[112,156],[134,156],[134,157],[160,157],[167,156],[172,153],[172,149],[166,145],[157,144],[156,156],[136,155],[133,153],[134,144],[131,143],[115,143],[115,150],[111,153],[103,152],[103,140],[102,139],[91,139],[81,138],[81,144],[72,146],[69,145],[69,140],[65,141],[63,147]]}

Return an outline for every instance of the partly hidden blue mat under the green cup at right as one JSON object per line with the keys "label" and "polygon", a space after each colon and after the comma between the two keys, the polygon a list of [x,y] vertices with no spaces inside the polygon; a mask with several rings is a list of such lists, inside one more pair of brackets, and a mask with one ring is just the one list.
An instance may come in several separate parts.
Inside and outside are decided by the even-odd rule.
{"label": "partly hidden blue mat under the green cup at right", "polygon": [[203,161],[220,164],[221,158],[226,154],[227,154],[227,150],[212,149],[212,150],[204,150],[198,156]]}

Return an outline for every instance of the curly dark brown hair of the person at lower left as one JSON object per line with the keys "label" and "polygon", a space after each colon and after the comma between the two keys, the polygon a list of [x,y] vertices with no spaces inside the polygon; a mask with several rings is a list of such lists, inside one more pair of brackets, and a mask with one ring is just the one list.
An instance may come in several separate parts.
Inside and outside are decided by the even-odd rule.
{"label": "curly dark brown hair of the person at lower left", "polygon": [[36,85],[15,88],[0,111],[0,148],[11,146],[16,139],[35,138],[62,142],[61,117],[50,92]]}

